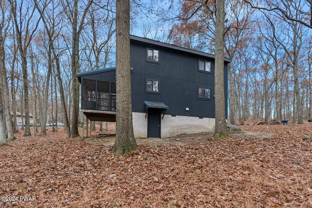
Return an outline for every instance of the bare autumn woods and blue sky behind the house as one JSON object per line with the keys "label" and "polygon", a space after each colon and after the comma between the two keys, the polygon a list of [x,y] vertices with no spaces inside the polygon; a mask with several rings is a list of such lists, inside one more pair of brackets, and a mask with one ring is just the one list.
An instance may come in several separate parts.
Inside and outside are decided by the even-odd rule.
{"label": "bare autumn woods and blue sky behind the house", "polygon": [[[239,124],[246,119],[312,119],[311,1],[270,2],[225,2],[224,56],[232,59],[228,92],[233,124],[236,119]],[[214,5],[134,0],[130,33],[215,54]],[[0,114],[9,139],[21,128],[25,136],[36,133],[37,123],[45,134],[45,124],[57,121],[64,123],[68,137],[78,135],[76,73],[115,66],[115,21],[116,2],[111,0],[1,1]],[[21,124],[17,112],[25,115]]]}

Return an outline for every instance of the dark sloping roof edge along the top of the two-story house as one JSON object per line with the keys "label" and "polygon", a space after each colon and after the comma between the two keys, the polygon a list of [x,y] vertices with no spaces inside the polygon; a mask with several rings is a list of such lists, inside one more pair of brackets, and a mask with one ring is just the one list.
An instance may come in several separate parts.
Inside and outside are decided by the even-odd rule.
{"label": "dark sloping roof edge along the top of the two-story house", "polygon": [[[140,42],[145,42],[145,43],[148,43],[148,44],[161,46],[161,47],[165,47],[165,48],[171,48],[171,49],[174,49],[174,50],[177,50],[177,51],[183,51],[183,52],[186,52],[186,53],[195,54],[195,55],[199,55],[199,56],[203,56],[203,57],[215,58],[215,55],[212,55],[212,54],[207,54],[207,53],[204,53],[204,52],[195,51],[195,50],[188,49],[188,48],[183,48],[183,47],[180,47],[180,46],[176,46],[176,45],[172,45],[172,44],[169,44],[169,43],[160,42],[160,41],[157,41],[157,40],[152,40],[152,39],[148,39],[148,38],[141,38],[141,37],[132,36],[132,35],[130,36],[130,39],[131,40],[137,40],[137,41],[140,41]],[[225,57],[224,61],[231,62],[231,59]]]}

